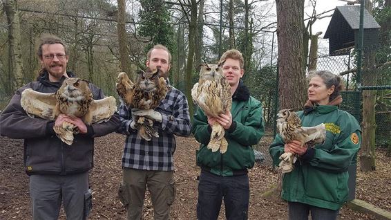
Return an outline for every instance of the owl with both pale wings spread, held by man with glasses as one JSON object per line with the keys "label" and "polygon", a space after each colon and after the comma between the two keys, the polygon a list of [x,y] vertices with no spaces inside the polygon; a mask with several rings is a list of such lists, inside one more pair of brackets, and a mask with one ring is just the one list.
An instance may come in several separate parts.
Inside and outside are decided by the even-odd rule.
{"label": "owl with both pale wings spread, held by man with glasses", "polygon": [[[55,93],[40,93],[26,89],[21,93],[21,107],[28,116],[55,120],[60,113],[82,118],[86,125],[109,120],[117,110],[113,96],[93,100],[86,80],[70,77]],[[54,127],[57,136],[67,145],[72,145],[73,134],[79,131],[75,125],[64,122]]]}

